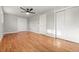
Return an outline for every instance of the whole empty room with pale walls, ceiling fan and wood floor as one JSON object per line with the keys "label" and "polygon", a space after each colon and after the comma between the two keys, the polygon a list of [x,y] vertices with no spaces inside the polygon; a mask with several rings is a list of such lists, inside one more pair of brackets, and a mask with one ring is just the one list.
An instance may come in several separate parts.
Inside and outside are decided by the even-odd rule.
{"label": "whole empty room with pale walls, ceiling fan and wood floor", "polygon": [[0,6],[0,52],[79,52],[79,6]]}

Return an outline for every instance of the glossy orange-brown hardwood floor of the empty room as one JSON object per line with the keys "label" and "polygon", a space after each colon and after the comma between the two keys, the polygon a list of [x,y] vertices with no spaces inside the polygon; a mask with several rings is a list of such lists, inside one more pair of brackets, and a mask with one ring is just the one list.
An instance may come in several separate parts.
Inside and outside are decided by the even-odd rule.
{"label": "glossy orange-brown hardwood floor of the empty room", "polygon": [[79,51],[79,44],[63,39],[33,33],[5,34],[0,42],[1,52],[55,52]]}

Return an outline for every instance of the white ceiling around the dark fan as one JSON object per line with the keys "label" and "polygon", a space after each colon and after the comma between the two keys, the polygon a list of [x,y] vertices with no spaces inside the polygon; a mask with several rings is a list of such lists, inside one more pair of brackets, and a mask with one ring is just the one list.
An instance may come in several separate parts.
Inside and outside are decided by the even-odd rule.
{"label": "white ceiling around the dark fan", "polygon": [[[49,9],[59,8],[58,6],[23,6],[23,7],[24,8],[33,8],[34,12],[36,12],[36,14],[45,12]],[[61,6],[61,7],[64,7],[64,6]],[[20,9],[20,6],[3,6],[3,11],[4,11],[4,13],[16,15],[16,16],[22,16],[22,17],[31,17],[31,16],[33,16],[33,14],[26,15],[25,13],[22,13],[21,12],[22,10]]]}

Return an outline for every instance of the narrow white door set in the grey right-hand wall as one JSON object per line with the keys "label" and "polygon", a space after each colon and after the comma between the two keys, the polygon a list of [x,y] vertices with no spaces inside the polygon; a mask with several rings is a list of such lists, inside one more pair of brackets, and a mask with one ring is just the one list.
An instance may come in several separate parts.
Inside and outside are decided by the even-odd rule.
{"label": "narrow white door set in the grey right-hand wall", "polygon": [[42,34],[46,33],[46,15],[40,15],[39,19],[39,32]]}

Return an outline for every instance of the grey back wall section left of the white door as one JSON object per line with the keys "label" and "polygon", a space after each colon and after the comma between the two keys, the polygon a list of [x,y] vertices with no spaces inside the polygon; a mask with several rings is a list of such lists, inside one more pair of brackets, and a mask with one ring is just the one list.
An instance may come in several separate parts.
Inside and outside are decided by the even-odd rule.
{"label": "grey back wall section left of the white door", "polygon": [[17,17],[4,14],[4,33],[11,33],[17,31]]}

